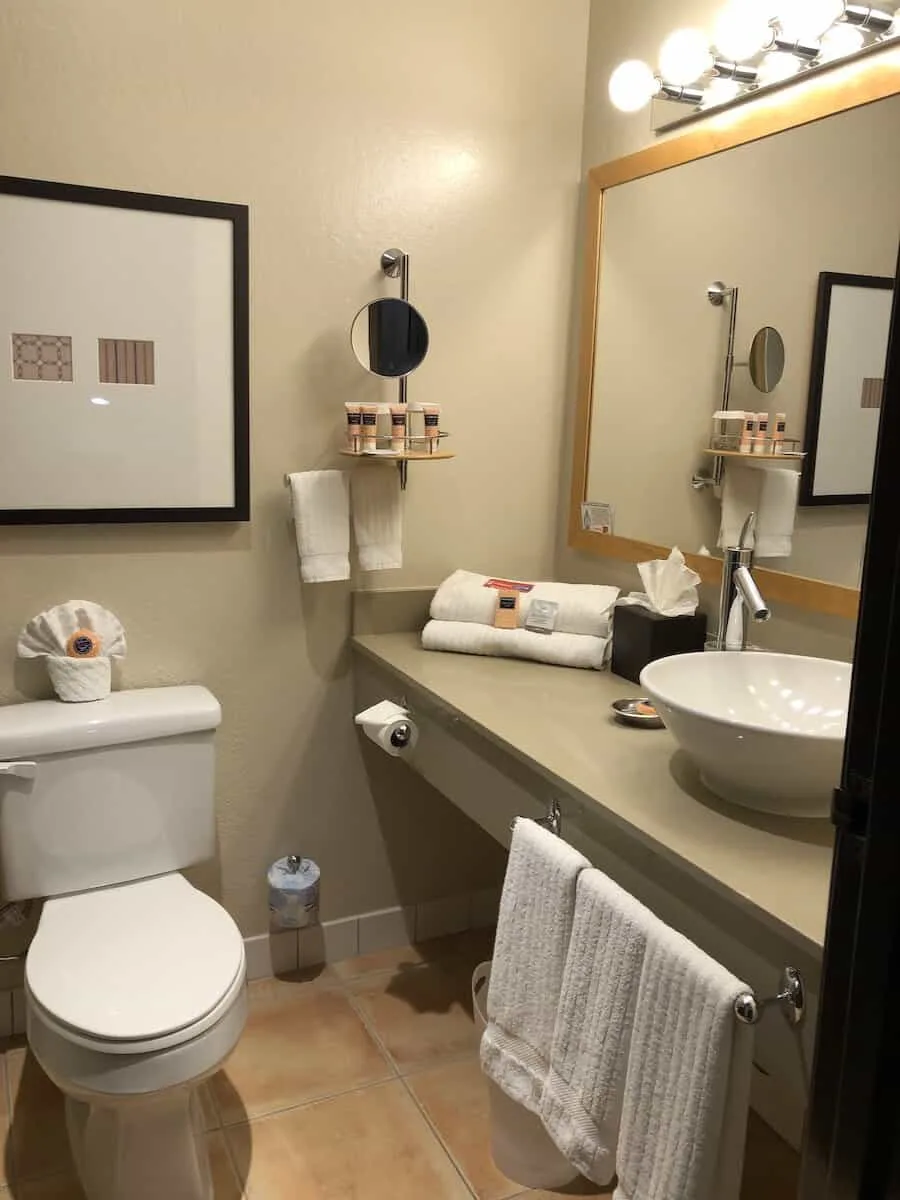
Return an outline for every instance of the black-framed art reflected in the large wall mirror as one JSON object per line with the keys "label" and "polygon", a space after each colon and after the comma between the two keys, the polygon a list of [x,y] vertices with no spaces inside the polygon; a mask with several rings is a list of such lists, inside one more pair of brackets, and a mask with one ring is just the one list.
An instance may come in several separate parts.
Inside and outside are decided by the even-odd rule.
{"label": "black-framed art reflected in the large wall mirror", "polygon": [[868,504],[894,280],[818,276],[800,504]]}

